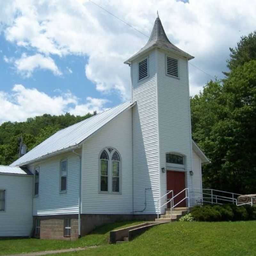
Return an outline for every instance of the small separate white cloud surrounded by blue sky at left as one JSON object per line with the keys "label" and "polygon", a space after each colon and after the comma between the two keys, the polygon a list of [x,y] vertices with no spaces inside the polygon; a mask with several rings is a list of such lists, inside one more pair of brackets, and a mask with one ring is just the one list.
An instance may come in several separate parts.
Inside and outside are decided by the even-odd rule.
{"label": "small separate white cloud surrounded by blue sky at left", "polygon": [[14,65],[17,68],[17,71],[26,77],[30,77],[37,68],[51,70],[55,76],[62,75],[51,57],[45,57],[39,53],[31,56],[22,54],[20,59],[14,61]]}

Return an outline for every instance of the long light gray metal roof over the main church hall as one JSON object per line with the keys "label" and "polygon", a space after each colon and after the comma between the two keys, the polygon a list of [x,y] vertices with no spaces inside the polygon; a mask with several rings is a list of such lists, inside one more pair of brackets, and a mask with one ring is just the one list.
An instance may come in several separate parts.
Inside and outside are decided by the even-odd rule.
{"label": "long light gray metal roof over the main church hall", "polygon": [[78,148],[80,146],[79,144],[86,138],[134,104],[135,103],[125,102],[54,133],[27,154],[13,162],[11,166],[22,166],[48,156]]}

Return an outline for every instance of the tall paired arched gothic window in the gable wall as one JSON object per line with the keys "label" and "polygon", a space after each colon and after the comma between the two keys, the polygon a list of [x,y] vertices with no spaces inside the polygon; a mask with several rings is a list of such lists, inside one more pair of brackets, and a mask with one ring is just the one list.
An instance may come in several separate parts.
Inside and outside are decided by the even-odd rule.
{"label": "tall paired arched gothic window in the gable wall", "polygon": [[106,148],[100,154],[100,191],[120,193],[121,158],[114,148]]}

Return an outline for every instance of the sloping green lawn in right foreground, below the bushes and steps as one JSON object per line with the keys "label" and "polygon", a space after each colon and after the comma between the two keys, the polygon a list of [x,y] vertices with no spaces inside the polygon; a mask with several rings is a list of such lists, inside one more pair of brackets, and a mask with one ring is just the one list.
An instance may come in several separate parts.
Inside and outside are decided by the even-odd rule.
{"label": "sloping green lawn in right foreground, below the bushes and steps", "polygon": [[173,222],[151,228],[129,243],[62,253],[61,256],[256,255],[255,230],[256,221]]}

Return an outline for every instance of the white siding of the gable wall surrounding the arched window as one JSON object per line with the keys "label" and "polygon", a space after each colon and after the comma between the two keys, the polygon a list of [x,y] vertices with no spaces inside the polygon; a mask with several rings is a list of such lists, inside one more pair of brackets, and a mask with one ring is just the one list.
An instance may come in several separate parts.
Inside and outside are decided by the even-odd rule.
{"label": "white siding of the gable wall surrounding the arched window", "polygon": [[[125,110],[84,142],[82,153],[82,214],[131,214],[132,212],[132,111]],[[100,192],[99,160],[102,149],[120,155],[120,192]],[[106,149],[107,150],[107,149]],[[111,158],[110,158],[111,165]],[[110,177],[110,170],[109,170]],[[112,182],[108,182],[112,185]]]}

